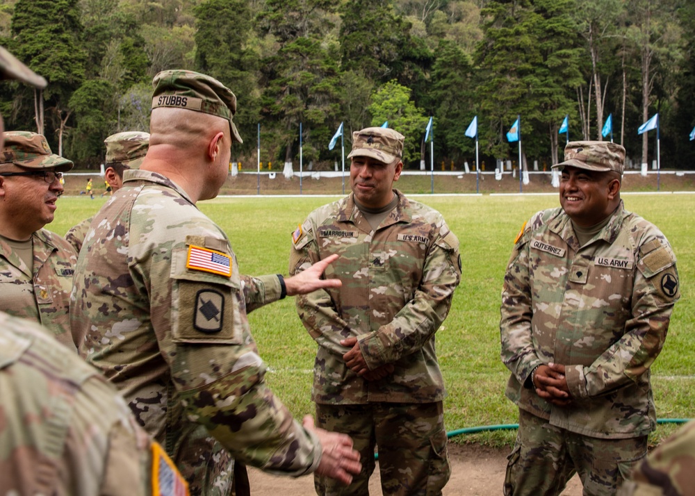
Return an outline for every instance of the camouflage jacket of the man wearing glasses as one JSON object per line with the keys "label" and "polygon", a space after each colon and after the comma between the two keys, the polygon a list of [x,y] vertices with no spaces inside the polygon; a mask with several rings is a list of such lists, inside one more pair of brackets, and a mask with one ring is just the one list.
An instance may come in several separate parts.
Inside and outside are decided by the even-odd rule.
{"label": "camouflage jacket of the man wearing glasses", "polygon": [[70,291],[77,254],[56,233],[31,235],[33,274],[22,258],[0,240],[0,311],[39,322],[58,341],[76,349],[70,333]]}

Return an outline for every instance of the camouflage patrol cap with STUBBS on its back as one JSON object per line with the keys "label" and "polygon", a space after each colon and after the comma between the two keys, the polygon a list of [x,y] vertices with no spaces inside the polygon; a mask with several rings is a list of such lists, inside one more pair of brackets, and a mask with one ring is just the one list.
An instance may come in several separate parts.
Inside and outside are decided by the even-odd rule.
{"label": "camouflage patrol cap with STUBBS on its back", "polygon": [[236,95],[220,81],[199,72],[173,69],[162,71],[152,80],[152,109],[185,108],[217,115],[229,121],[232,140],[243,143],[232,117],[236,114]]}

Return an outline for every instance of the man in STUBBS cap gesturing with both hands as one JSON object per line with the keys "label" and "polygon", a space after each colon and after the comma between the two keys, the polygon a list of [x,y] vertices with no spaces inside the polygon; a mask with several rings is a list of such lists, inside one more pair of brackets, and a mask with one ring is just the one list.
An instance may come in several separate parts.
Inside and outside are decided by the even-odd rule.
{"label": "man in STUBBS cap gesturing with both hands", "polygon": [[95,216],[77,263],[71,317],[81,355],[122,390],[191,494],[247,493],[243,463],[349,483],[360,470],[352,441],[293,420],[265,384],[247,318],[337,281],[320,279],[327,263],[304,277],[240,275],[229,239],[196,207],[218,194],[241,142],[236,97],[182,70],[153,85],[147,156]]}

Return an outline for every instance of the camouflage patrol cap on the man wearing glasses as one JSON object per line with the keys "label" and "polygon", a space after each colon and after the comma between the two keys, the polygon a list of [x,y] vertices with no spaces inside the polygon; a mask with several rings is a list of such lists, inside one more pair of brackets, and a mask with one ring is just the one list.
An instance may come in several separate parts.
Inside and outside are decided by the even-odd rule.
{"label": "camouflage patrol cap on the man wearing glasses", "polygon": [[2,149],[2,164],[13,163],[28,169],[55,169],[67,172],[73,163],[51,152],[43,135],[30,131],[8,131]]}

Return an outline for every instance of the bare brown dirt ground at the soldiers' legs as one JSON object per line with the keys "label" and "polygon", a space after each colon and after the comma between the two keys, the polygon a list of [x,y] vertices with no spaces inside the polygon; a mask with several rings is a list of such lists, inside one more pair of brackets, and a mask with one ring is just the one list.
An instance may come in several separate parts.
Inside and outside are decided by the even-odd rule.
{"label": "bare brown dirt ground at the soldiers' legs", "polygon": [[[449,443],[451,478],[443,490],[444,496],[493,496],[502,494],[507,467],[507,449],[482,445]],[[369,493],[381,496],[379,470],[370,479]],[[311,496],[313,477],[298,479],[277,477],[257,469],[249,469],[251,494],[254,496]],[[569,481],[563,496],[581,496],[582,483],[577,477]]]}

